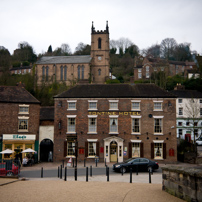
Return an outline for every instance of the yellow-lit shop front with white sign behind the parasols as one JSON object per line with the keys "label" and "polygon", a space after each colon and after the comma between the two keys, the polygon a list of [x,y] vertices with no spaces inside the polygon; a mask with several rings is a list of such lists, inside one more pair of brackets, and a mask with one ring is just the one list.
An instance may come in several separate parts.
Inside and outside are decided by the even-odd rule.
{"label": "yellow-lit shop front with white sign behind the parasols", "polygon": [[[36,135],[3,134],[2,150],[11,149],[14,151],[14,153],[3,154],[2,159],[6,160],[6,159],[20,158],[20,160],[22,162],[22,159],[26,155],[31,155],[31,154],[27,154],[27,153],[22,153],[23,150],[28,149],[28,148],[37,151],[36,148],[38,148],[38,147],[36,147]],[[35,158],[38,158],[37,154],[35,154]]]}

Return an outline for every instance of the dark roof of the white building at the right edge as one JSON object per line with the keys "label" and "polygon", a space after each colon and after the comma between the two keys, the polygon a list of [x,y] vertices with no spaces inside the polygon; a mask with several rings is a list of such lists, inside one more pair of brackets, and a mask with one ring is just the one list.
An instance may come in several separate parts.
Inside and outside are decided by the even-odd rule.
{"label": "dark roof of the white building at the right edge", "polygon": [[202,98],[202,93],[197,90],[172,90],[170,93],[178,98]]}

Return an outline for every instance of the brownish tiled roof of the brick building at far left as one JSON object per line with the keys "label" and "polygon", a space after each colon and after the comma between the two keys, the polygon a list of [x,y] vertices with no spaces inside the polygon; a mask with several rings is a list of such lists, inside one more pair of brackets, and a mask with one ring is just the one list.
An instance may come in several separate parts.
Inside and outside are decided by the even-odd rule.
{"label": "brownish tiled roof of the brick building at far left", "polygon": [[40,102],[22,86],[0,86],[0,102],[40,104]]}

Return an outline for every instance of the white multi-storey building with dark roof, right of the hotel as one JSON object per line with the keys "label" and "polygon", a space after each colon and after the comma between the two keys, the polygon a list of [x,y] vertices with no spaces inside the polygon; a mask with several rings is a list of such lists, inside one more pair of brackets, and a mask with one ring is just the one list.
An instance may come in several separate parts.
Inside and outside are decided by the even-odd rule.
{"label": "white multi-storey building with dark roof, right of the hotel", "polygon": [[196,140],[202,134],[202,93],[196,90],[185,90],[185,87],[180,84],[171,93],[177,96],[177,138],[188,142]]}

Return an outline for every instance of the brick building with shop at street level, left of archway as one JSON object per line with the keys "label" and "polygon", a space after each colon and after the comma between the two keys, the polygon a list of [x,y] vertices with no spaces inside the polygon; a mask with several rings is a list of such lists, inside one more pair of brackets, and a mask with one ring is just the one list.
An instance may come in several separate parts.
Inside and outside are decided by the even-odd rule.
{"label": "brick building with shop at street level, left of archway", "polygon": [[0,108],[0,150],[15,151],[1,157],[22,160],[22,150],[38,151],[40,102],[22,86],[0,86]]}

